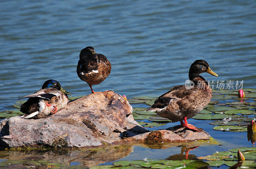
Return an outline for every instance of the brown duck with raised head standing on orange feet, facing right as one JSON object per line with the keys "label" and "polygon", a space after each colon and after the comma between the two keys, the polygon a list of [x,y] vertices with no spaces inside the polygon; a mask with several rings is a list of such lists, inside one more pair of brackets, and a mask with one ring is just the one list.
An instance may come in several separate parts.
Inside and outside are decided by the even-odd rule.
{"label": "brown duck with raised head standing on orange feet, facing right", "polygon": [[193,81],[194,86],[174,86],[158,97],[152,107],[146,111],[156,112],[159,116],[173,122],[180,121],[181,126],[187,129],[197,130],[195,126],[188,124],[187,119],[202,111],[212,98],[209,83],[199,75],[204,72],[219,77],[210,69],[205,60],[196,60],[188,72],[189,80]]}

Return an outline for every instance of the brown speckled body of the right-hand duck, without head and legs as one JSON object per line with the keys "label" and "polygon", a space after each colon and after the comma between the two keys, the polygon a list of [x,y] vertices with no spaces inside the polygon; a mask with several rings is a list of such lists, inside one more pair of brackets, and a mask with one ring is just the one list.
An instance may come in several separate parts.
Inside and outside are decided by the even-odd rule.
{"label": "brown speckled body of the right-hand duck, without head and legs", "polygon": [[200,88],[186,89],[184,85],[175,86],[158,97],[147,111],[155,111],[173,121],[180,121],[184,116],[191,118],[208,104],[204,104],[207,96],[205,94]]}

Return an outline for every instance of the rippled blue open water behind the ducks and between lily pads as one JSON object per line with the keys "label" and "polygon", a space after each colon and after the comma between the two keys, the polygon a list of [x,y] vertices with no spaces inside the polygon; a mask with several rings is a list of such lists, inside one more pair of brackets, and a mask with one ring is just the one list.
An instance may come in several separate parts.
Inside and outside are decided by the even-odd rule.
{"label": "rippled blue open water behind the ducks and between lily pads", "polygon": [[[13,109],[18,97],[48,79],[73,96],[90,94],[76,74],[86,46],[112,64],[94,91],[161,95],[184,84],[197,59],[219,75],[202,74],[205,79],[243,80],[255,88],[255,8],[255,1],[235,0],[1,1],[0,111]],[[208,122],[192,121],[220,133],[207,130]]]}

